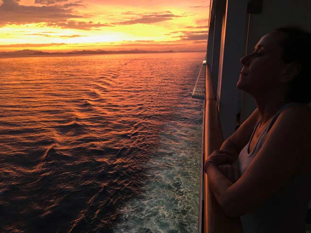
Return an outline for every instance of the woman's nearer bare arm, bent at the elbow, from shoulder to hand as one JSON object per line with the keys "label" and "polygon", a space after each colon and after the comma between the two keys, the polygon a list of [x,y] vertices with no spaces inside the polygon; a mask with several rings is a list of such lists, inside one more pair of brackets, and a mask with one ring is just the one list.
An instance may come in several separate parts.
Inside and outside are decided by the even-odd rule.
{"label": "woman's nearer bare arm, bent at the elbow, from shoulder to hand", "polygon": [[297,171],[303,156],[308,156],[311,151],[310,119],[310,109],[299,106],[285,109],[249,167],[235,183],[227,179],[215,164],[209,164],[208,183],[226,215],[236,217],[250,212]]}

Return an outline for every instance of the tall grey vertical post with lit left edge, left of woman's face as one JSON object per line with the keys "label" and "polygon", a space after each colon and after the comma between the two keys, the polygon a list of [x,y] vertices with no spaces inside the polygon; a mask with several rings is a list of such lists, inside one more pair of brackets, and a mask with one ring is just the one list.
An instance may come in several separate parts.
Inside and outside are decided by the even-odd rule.
{"label": "tall grey vertical post with lit left edge, left of woman's face", "polygon": [[247,0],[226,1],[217,92],[224,139],[235,131],[239,98],[236,84],[242,68],[240,59],[245,51],[246,9]]}

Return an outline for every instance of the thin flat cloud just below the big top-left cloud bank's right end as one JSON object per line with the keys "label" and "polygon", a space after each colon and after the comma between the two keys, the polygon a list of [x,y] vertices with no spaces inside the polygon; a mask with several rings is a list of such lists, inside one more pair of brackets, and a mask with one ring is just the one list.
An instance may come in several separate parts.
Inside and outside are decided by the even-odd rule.
{"label": "thin flat cloud just below the big top-left cloud bank's right end", "polygon": [[106,23],[94,23],[93,21],[75,21],[68,20],[67,22],[51,22],[45,24],[48,27],[58,27],[58,28],[71,28],[71,29],[79,29],[79,30],[94,30],[100,27],[113,27],[111,24]]}

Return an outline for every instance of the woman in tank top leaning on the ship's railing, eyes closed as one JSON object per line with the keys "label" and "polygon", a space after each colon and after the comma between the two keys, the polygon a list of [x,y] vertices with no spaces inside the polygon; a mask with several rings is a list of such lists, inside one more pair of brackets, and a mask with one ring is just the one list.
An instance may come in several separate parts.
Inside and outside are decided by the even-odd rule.
{"label": "woman in tank top leaning on the ship's railing, eyes closed", "polygon": [[305,233],[311,198],[311,34],[277,29],[241,62],[237,87],[254,97],[257,109],[209,155],[209,186],[227,216],[241,217],[243,233]]}

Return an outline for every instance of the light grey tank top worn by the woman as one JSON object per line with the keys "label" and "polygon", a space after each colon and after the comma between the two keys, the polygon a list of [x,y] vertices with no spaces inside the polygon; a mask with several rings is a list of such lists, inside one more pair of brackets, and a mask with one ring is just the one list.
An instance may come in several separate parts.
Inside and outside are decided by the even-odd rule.
{"label": "light grey tank top worn by the woman", "polygon": [[[259,125],[259,121],[256,123],[249,142],[239,154],[237,165],[241,175],[260,150],[266,134],[275,123],[281,111],[293,103],[290,102],[284,105],[271,117],[253,151],[249,151],[249,144]],[[311,174],[294,174],[257,209],[241,216],[243,233],[306,233],[305,218],[310,198]]]}

